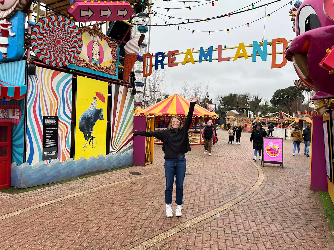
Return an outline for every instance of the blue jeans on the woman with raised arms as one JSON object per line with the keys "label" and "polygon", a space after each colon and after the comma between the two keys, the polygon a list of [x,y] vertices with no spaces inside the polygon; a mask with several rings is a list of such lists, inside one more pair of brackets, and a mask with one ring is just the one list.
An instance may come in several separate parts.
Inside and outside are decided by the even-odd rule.
{"label": "blue jeans on the woman with raised arms", "polygon": [[183,204],[183,180],[186,175],[186,157],[182,155],[177,158],[165,159],[165,177],[166,177],[166,204],[172,203],[173,185],[176,185],[176,200],[177,205]]}

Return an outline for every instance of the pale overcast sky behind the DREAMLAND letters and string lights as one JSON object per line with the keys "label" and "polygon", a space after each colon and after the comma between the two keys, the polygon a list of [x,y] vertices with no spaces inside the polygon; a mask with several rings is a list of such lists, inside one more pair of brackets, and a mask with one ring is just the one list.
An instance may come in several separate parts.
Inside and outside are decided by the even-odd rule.
{"label": "pale overcast sky behind the DREAMLAND letters and string lights", "polygon": [[[255,6],[267,4],[272,0],[262,0]],[[195,6],[199,3],[191,2],[183,5],[183,2],[163,2],[157,0],[154,2],[154,6],[166,7],[166,8],[178,8]],[[214,2],[214,6],[206,4],[199,7],[193,7],[190,11],[187,9],[169,10],[152,8],[153,11],[158,13],[175,16],[180,18],[189,19],[203,19],[210,18],[212,16],[223,15],[228,12],[238,10],[244,6],[256,2],[255,0],[240,0],[240,1],[227,1],[220,0],[218,3]],[[293,1],[294,2],[294,1]],[[293,39],[296,35],[292,31],[293,22],[289,17],[289,10],[293,5],[287,5],[284,8],[276,11],[271,15],[271,18],[261,19],[257,22],[250,24],[250,27],[243,26],[240,28],[232,29],[229,33],[226,31],[212,32],[213,30],[222,30],[242,24],[252,22],[265,14],[272,13],[278,8],[282,7],[288,0],[282,0],[277,3],[270,4],[268,7],[262,7],[259,9],[246,11],[244,13],[232,15],[231,17],[223,17],[219,19],[209,20],[209,22],[199,22],[193,24],[180,25],[180,29],[177,30],[177,26],[160,26],[152,27],[151,30],[151,42],[150,53],[164,52],[168,53],[169,50],[179,50],[179,52],[185,52],[188,48],[194,48],[199,50],[200,47],[207,49],[210,46],[218,48],[218,45],[227,47],[238,46],[240,42],[246,44],[252,44],[253,41],[261,42],[264,34],[264,21],[265,35],[264,39],[272,41],[274,38],[284,37],[288,41]],[[167,22],[179,23],[182,20],[168,19],[159,14],[157,16],[162,17]],[[152,24],[164,24],[164,20],[159,17],[152,17]],[[181,29],[186,27],[191,30]],[[211,35],[208,32],[194,32],[192,30],[206,30],[211,31]],[[147,33],[148,35],[148,33]],[[268,46],[268,53],[271,52],[271,46]],[[277,51],[282,51],[283,46],[278,45]],[[252,54],[252,48],[246,48],[247,54]],[[224,50],[222,57],[234,56],[236,49]],[[199,53],[193,54],[195,60],[198,60]],[[183,61],[184,55],[178,55],[177,61]],[[213,52],[213,58],[217,58],[217,51]],[[165,62],[168,62],[167,57]],[[282,55],[277,55],[277,63],[282,62]],[[202,62],[195,64],[187,63],[186,65],[179,64],[178,67],[167,67],[166,75],[166,87],[167,91],[171,94],[171,83],[182,85],[183,81],[187,81],[189,85],[195,83],[202,83],[210,79],[213,90],[210,97],[214,98],[216,95],[225,95],[230,92],[244,93],[249,92],[251,94],[260,93],[263,97],[271,98],[274,92],[279,88],[286,88],[293,85],[293,81],[297,79],[297,74],[293,68],[291,62],[288,62],[286,66],[280,69],[271,68],[271,55],[267,56],[267,61],[263,62],[261,58],[257,57],[257,62],[252,62],[250,57],[248,60],[239,58],[237,61],[230,59],[229,62]],[[177,93],[179,93],[179,87],[176,87]]]}

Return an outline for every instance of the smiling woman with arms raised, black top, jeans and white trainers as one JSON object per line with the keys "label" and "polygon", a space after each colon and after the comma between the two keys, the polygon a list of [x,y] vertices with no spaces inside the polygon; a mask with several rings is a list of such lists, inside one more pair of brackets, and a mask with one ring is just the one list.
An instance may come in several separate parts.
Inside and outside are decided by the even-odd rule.
{"label": "smiling woman with arms raised, black top, jeans and white trainers", "polygon": [[174,184],[174,175],[176,178],[176,211],[175,216],[181,216],[183,204],[183,180],[186,173],[186,158],[185,153],[191,151],[188,129],[192,122],[195,104],[198,100],[195,97],[190,102],[187,119],[184,124],[177,115],[173,116],[168,125],[168,129],[152,132],[135,131],[133,136],[141,135],[146,137],[155,137],[162,141],[162,151],[165,152],[165,177],[166,177],[166,216],[173,217],[172,211],[172,192]]}

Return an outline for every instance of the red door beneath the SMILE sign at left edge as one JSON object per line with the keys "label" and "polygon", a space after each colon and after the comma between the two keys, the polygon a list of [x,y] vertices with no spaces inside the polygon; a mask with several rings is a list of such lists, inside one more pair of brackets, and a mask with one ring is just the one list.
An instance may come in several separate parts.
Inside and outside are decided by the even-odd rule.
{"label": "red door beneath the SMILE sign at left edge", "polygon": [[0,189],[10,187],[12,124],[0,122]]}

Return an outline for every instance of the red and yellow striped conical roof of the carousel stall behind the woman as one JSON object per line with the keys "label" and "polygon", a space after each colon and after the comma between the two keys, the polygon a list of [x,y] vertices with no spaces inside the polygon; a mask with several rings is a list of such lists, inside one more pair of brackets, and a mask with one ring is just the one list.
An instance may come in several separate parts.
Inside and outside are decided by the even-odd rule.
{"label": "red and yellow striped conical roof of the carousel stall behind the woman", "polygon": [[[187,116],[190,106],[190,101],[182,96],[175,94],[172,95],[152,106],[143,109],[136,110],[136,116]],[[206,110],[205,108],[196,104],[193,117],[211,117],[212,119],[218,119],[219,116]]]}

